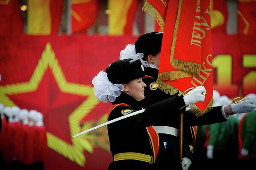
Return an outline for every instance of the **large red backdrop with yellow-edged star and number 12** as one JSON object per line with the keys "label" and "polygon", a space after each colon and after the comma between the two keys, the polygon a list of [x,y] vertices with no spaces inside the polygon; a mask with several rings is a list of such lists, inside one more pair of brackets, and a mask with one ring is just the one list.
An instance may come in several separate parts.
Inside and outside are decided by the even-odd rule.
{"label": "large red backdrop with yellow-edged star and number 12", "polygon": [[[133,36],[0,37],[0,103],[44,114],[49,168],[106,170],[112,161],[107,120],[91,80],[119,60]],[[212,35],[213,88],[231,99],[256,93],[256,36]],[[100,162],[100,163],[99,163]]]}

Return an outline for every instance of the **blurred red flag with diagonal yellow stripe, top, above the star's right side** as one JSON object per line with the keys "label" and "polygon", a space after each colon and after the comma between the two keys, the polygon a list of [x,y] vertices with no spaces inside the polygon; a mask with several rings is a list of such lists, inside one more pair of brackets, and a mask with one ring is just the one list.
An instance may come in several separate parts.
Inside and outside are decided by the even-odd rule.
{"label": "blurred red flag with diagonal yellow stripe, top, above the star's right side", "polygon": [[72,33],[84,32],[94,24],[98,13],[97,0],[72,0]]}

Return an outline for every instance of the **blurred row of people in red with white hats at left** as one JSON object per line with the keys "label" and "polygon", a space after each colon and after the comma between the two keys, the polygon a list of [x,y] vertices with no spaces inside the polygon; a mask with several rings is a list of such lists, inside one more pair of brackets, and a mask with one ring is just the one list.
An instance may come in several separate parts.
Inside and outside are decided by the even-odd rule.
{"label": "blurred row of people in red with white hats at left", "polygon": [[0,103],[0,114],[1,169],[44,169],[48,147],[42,113]]}

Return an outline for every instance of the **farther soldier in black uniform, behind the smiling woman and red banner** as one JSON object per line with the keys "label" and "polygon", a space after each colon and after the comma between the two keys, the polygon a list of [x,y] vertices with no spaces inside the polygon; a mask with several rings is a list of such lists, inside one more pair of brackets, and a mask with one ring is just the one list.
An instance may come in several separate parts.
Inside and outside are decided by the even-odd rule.
{"label": "farther soldier in black uniform, behind the smiling woman and red banner", "polygon": [[[146,106],[154,104],[156,102],[162,101],[166,98],[170,98],[171,95],[167,95],[165,92],[162,92],[158,89],[158,84],[156,84],[156,79],[158,76],[158,67],[160,59],[160,51],[162,46],[162,32],[151,32],[145,35],[138,37],[138,40],[135,42],[135,45],[127,45],[126,49],[122,50],[120,58],[139,58],[143,59],[146,76],[143,78],[147,87],[145,87],[145,99],[141,101]],[[132,49],[132,48],[135,48]],[[135,54],[132,54],[134,52]],[[141,55],[141,53],[143,55]],[[132,55],[134,57],[132,57]],[[177,96],[177,95],[172,95]],[[249,102],[249,101],[247,101]],[[228,106],[230,107],[230,106]],[[227,107],[227,108],[228,108]],[[238,106],[236,106],[238,107]],[[249,106],[248,106],[249,107]],[[191,112],[185,112],[183,115],[183,158],[182,161],[179,158],[179,145],[177,131],[179,127],[179,116],[176,116],[168,124],[162,124],[162,126],[155,126],[156,130],[159,133],[160,139],[160,149],[154,167],[157,170],[165,169],[165,167],[172,167],[175,170],[187,170],[198,169],[200,166],[197,164],[197,161],[194,161],[193,150],[194,150],[194,141],[196,133],[194,126],[203,125],[203,124],[213,124],[216,122],[227,121],[226,115],[234,114],[234,112],[222,112],[224,107],[213,107],[210,112],[204,114],[197,118]],[[169,111],[168,111],[169,110]],[[174,110],[171,109],[171,106],[165,112],[174,113]],[[158,111],[161,114],[160,111]],[[226,115],[225,115],[226,114]],[[176,114],[177,115],[177,114]],[[170,127],[171,124],[171,127]],[[154,124],[157,125],[157,124]],[[165,125],[165,126],[163,126]],[[169,125],[169,126],[168,126]],[[191,164],[192,161],[192,164]],[[191,164],[191,166],[190,166]]]}

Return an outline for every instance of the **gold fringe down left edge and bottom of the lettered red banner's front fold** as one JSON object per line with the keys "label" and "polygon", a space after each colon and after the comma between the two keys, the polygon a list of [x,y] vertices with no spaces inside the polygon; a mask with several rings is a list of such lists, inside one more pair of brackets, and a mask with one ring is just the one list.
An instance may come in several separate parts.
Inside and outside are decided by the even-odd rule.
{"label": "gold fringe down left edge and bottom of the lettered red banner's front fold", "polygon": [[178,60],[178,59],[174,58],[174,50],[175,50],[175,43],[177,40],[177,32],[178,32],[178,26],[179,26],[181,5],[182,5],[182,0],[179,0],[178,14],[177,14],[176,21],[175,21],[174,34],[173,34],[174,36],[173,36],[173,42],[171,45],[170,63],[174,68],[186,71],[184,74],[188,74],[186,77],[189,77],[188,72],[194,72],[197,75],[200,74],[201,64],[193,63],[193,62],[189,62],[189,61],[182,61],[182,60]]}

